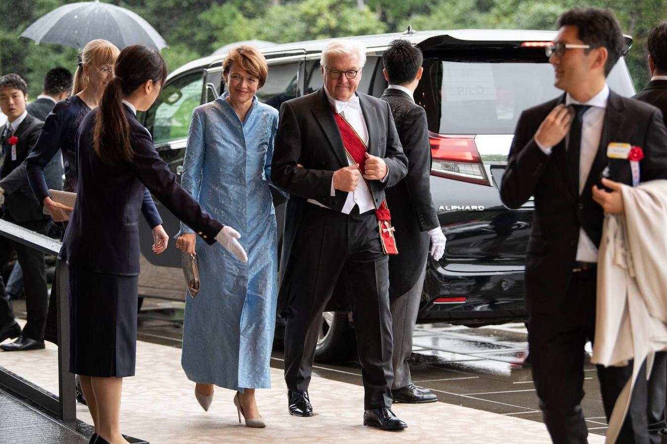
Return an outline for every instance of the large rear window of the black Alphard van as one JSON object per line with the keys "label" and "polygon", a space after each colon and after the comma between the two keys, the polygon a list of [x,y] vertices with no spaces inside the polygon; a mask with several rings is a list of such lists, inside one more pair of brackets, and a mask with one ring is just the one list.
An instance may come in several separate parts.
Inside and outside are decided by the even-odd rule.
{"label": "large rear window of the black Alphard van", "polygon": [[[616,93],[634,95],[623,59],[607,81]],[[512,134],[522,111],[560,94],[562,91],[554,87],[554,68],[549,63],[430,59],[424,61],[424,75],[415,98],[426,109],[433,132]]]}

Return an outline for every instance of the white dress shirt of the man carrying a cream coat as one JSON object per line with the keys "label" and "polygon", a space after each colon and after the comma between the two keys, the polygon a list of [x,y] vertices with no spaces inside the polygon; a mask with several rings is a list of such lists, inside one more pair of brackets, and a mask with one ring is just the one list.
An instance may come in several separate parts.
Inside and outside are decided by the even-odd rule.
{"label": "white dress shirt of the man carrying a cream coat", "polygon": [[[602,126],[604,125],[604,115],[607,109],[607,99],[609,99],[609,86],[605,83],[600,92],[586,103],[580,103],[570,95],[565,97],[565,105],[589,105],[591,108],[584,112],[582,117],[582,141],[581,151],[579,157],[579,194],[582,194],[584,186],[586,186],[586,179],[588,173],[593,166],[593,161],[600,148],[600,138],[602,137]],[[569,144],[570,134],[566,140],[566,145]],[[552,146],[540,146],[540,150],[546,154],[551,155]],[[579,262],[598,262],[598,248],[594,242],[590,240],[584,228],[579,228],[579,242],[577,244],[576,260]]]}

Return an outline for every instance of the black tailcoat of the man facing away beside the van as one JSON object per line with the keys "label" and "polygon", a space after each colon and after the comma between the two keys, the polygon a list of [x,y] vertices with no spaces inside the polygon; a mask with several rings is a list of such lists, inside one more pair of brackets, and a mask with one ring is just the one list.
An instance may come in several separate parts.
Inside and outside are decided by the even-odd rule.
{"label": "black tailcoat of the man facing away beside the van", "polygon": [[440,223],[431,198],[426,111],[398,89],[384,90],[382,99],[392,109],[398,137],[408,157],[408,174],[386,192],[399,253],[389,257],[389,296],[394,299],[416,284],[428,255],[430,238],[426,232]]}

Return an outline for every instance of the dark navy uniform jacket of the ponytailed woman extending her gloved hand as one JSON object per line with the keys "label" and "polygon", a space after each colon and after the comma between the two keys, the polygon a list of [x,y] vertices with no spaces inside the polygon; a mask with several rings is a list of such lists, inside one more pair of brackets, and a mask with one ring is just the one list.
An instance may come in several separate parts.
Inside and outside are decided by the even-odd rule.
{"label": "dark navy uniform jacket of the ponytailed woman extending her gloved hand", "polygon": [[96,114],[97,110],[89,112],[79,126],[77,200],[60,257],[95,272],[139,274],[139,213],[145,187],[205,242],[213,244],[223,224],[203,212],[177,184],[134,114],[125,108],[134,158],[113,166],[102,162],[93,148]]}

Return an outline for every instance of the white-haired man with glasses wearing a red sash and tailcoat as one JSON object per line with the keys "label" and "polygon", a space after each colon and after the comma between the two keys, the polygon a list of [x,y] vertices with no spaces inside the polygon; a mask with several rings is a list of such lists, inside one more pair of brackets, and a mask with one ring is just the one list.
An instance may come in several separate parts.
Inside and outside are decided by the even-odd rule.
{"label": "white-haired man with glasses wearing a red sash and tailcoat", "polygon": [[392,412],[392,316],[388,256],[394,245],[384,190],[408,160],[389,105],[357,92],[366,49],[332,41],[323,87],[283,103],[271,180],[290,194],[280,265],[286,301],[285,381],[291,415],[309,417],[321,312],[339,279],[353,310],[364,380],[364,424],[403,429]]}

